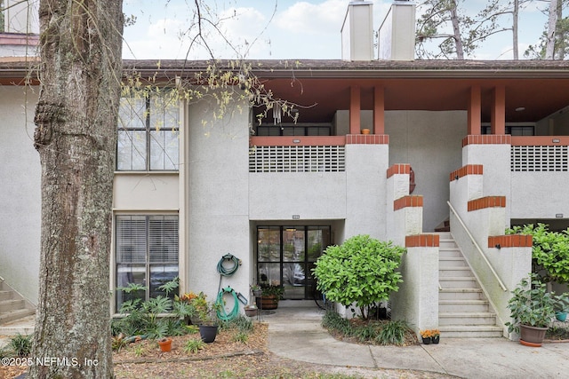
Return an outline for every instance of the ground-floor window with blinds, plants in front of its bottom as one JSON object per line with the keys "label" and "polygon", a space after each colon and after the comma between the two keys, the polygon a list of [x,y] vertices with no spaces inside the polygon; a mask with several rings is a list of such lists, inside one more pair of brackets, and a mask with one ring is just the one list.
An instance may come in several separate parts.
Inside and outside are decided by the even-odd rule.
{"label": "ground-floor window with blinds, plants in front of its bottom", "polygon": [[116,309],[133,297],[148,300],[178,276],[178,216],[116,216],[116,287],[140,284],[139,294],[116,291]]}

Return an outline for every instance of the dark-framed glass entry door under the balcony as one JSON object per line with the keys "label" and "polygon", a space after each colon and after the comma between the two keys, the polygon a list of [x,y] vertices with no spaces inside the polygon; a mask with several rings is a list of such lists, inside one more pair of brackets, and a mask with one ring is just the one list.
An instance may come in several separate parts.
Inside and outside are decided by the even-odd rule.
{"label": "dark-framed glass entry door under the balcony", "polygon": [[260,284],[281,284],[285,299],[314,298],[312,268],[330,245],[330,234],[330,225],[258,226]]}

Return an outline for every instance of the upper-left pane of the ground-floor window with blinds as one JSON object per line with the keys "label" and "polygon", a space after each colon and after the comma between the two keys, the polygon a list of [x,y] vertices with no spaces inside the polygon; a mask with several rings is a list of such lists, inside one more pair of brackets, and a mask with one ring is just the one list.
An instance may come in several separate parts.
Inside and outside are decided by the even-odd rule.
{"label": "upper-left pane of the ground-floor window with blinds", "polygon": [[116,262],[146,263],[146,217],[116,217]]}

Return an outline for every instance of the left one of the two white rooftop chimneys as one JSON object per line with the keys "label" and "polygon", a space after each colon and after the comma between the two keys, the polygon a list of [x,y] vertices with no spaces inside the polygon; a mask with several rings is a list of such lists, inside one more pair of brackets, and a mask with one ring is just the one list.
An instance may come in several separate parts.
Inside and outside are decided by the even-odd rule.
{"label": "left one of the two white rooftop chimneys", "polygon": [[373,3],[357,0],[348,5],[341,27],[341,59],[373,60]]}

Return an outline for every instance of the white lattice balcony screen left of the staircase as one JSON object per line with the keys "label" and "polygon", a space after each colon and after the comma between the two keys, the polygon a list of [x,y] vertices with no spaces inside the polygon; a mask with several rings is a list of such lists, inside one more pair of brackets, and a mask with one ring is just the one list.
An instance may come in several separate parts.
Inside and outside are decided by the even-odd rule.
{"label": "white lattice balcony screen left of the staircase", "polygon": [[249,172],[342,172],[344,146],[253,146]]}

